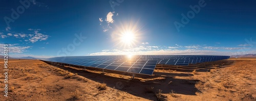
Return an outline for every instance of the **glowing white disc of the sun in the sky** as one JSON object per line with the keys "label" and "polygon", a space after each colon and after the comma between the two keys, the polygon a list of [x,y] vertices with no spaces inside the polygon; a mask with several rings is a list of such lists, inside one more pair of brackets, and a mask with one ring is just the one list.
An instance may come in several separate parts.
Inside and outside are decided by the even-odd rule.
{"label": "glowing white disc of the sun in the sky", "polygon": [[131,46],[135,41],[134,33],[132,31],[122,33],[121,41],[123,44]]}

